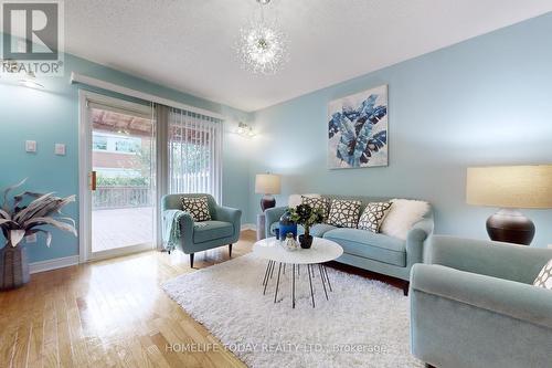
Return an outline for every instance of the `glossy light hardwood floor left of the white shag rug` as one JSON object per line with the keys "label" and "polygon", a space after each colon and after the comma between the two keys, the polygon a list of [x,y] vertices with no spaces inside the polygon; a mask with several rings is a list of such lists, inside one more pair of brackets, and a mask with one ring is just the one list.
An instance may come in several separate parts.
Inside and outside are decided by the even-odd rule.
{"label": "glossy light hardwood floor left of the white shag rug", "polygon": [[[242,232],[232,256],[254,241]],[[198,253],[194,267],[227,259],[227,246]],[[159,286],[193,271],[151,251],[34,274],[0,293],[0,367],[245,367]]]}

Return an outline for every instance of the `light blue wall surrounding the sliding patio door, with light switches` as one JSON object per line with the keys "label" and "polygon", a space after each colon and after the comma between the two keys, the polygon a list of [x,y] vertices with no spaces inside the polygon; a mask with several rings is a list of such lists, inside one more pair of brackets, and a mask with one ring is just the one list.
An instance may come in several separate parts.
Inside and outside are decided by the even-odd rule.
{"label": "light blue wall surrounding the sliding patio door, with light switches", "polygon": [[[251,119],[251,114],[66,55],[65,77],[41,78],[44,90],[6,84],[0,80],[0,188],[29,177],[26,190],[56,191],[60,196],[78,193],[78,87],[70,84],[71,72],[205,108],[227,116],[230,120]],[[223,201],[246,210],[248,166],[240,149],[243,138],[232,134],[233,124],[226,125],[224,135]],[[28,139],[36,140],[36,154],[24,151]],[[55,143],[67,145],[66,156],[54,155]],[[78,204],[70,206],[67,213],[77,219]],[[30,245],[31,262],[78,254],[77,239],[59,231],[54,232],[50,249],[42,238],[38,244]]]}

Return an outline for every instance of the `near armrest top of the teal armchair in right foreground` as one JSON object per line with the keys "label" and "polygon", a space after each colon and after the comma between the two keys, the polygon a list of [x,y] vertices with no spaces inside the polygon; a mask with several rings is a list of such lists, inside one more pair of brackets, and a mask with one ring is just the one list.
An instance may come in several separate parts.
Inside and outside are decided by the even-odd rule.
{"label": "near armrest top of the teal armchair in right foreground", "polygon": [[552,292],[440,265],[416,264],[411,290],[552,328]]}

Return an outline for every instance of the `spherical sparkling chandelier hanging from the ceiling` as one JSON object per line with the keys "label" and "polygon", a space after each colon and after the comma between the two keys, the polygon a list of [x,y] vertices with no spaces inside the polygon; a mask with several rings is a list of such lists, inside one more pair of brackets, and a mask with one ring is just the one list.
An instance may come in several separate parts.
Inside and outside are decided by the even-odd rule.
{"label": "spherical sparkling chandelier hanging from the ceiling", "polygon": [[275,74],[289,59],[286,36],[275,22],[265,21],[264,8],[270,0],[257,2],[261,4],[261,19],[253,19],[248,27],[240,30],[237,53],[244,69],[255,74]]}

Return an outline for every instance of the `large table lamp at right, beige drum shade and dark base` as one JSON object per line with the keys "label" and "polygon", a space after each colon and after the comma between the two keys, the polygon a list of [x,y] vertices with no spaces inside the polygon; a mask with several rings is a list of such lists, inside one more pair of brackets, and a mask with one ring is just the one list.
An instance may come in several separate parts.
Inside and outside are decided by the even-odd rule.
{"label": "large table lamp at right, beige drum shade and dark base", "polygon": [[552,165],[468,168],[466,199],[500,208],[487,219],[491,240],[529,245],[534,223],[519,209],[552,208]]}

